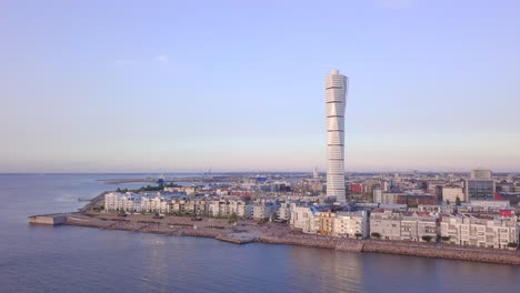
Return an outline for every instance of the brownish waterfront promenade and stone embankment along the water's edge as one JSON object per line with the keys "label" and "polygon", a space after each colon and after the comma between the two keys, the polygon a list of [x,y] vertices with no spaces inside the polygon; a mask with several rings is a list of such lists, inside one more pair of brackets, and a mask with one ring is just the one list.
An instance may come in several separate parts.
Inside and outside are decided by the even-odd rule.
{"label": "brownish waterfront promenade and stone embankment along the water's edge", "polygon": [[480,249],[451,244],[354,240],[311,235],[291,231],[287,224],[266,223],[260,225],[252,220],[240,220],[237,225],[232,225],[229,224],[226,219],[202,219],[201,221],[192,221],[190,218],[186,216],[153,219],[151,215],[141,214],[123,218],[110,213],[72,213],[68,215],[68,220],[64,224],[177,236],[213,238],[233,243],[260,242],[332,249],[348,252],[390,253],[520,265],[519,251]]}

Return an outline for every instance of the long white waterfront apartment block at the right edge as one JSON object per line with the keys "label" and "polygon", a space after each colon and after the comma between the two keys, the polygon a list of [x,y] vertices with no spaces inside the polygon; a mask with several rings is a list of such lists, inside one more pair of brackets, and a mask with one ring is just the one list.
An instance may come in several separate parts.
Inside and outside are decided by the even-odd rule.
{"label": "long white waterfront apartment block at the right edge", "polygon": [[448,215],[442,218],[441,236],[459,245],[504,249],[508,243],[519,242],[519,225],[516,216],[476,218]]}

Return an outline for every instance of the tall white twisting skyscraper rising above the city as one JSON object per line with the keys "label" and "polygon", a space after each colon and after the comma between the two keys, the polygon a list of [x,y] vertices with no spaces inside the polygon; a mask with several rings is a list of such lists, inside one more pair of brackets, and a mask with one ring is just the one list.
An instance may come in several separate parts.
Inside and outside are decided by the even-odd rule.
{"label": "tall white twisting skyscraper rising above the city", "polygon": [[344,193],[344,105],[349,80],[338,70],[332,70],[326,79],[327,108],[327,196],[336,196],[346,202]]}

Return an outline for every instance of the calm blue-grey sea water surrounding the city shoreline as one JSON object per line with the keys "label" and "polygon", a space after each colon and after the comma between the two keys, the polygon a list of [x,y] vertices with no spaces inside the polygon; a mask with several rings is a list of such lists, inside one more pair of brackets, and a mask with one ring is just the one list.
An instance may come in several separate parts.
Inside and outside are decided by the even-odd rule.
{"label": "calm blue-grey sea water surrounding the city shoreline", "polygon": [[118,176],[128,175],[0,175],[0,292],[520,290],[520,269],[507,265],[27,224]]}

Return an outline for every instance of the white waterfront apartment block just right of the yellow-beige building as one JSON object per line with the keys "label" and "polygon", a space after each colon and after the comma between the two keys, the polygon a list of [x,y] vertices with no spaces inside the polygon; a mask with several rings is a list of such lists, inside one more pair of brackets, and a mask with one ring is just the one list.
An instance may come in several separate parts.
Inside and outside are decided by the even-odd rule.
{"label": "white waterfront apartment block just right of the yellow-beige building", "polygon": [[336,213],[333,235],[339,238],[369,236],[369,223],[367,211],[338,212]]}

